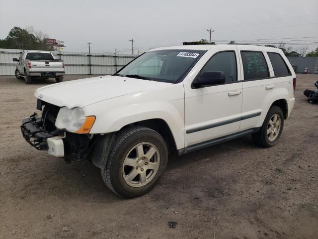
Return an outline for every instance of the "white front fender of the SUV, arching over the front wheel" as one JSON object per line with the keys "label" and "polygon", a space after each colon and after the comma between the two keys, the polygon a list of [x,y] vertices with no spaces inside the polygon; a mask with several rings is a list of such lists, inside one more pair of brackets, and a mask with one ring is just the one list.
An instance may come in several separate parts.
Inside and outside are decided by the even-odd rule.
{"label": "white front fender of the SUV, arching over the front wheel", "polygon": [[96,116],[90,133],[109,133],[147,119],[162,119],[169,126],[177,149],[184,147],[184,91],[176,84],[109,99],[84,107],[85,115]]}

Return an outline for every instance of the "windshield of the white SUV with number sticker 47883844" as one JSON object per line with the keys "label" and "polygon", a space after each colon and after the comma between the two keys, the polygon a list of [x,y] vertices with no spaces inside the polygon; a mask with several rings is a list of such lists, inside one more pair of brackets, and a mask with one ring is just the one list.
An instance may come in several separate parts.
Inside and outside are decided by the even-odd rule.
{"label": "windshield of the white SUV with number sticker 47883844", "polygon": [[141,55],[117,75],[145,80],[178,83],[206,51],[158,50]]}

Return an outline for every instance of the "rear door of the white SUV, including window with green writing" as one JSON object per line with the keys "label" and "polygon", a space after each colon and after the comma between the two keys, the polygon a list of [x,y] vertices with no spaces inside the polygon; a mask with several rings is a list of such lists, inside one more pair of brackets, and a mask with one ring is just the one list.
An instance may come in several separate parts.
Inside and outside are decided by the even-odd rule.
{"label": "rear door of the white SUV, including window with green writing", "polygon": [[239,131],[259,127],[267,112],[266,99],[275,88],[275,79],[271,77],[267,62],[268,56],[263,51],[251,51],[245,46],[238,46],[243,77],[242,120]]}

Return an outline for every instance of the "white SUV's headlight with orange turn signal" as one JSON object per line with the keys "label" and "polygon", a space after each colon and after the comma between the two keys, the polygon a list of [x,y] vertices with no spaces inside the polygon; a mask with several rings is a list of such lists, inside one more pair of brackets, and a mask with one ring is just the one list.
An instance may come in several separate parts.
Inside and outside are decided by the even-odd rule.
{"label": "white SUV's headlight with orange turn signal", "polygon": [[85,117],[84,110],[79,107],[73,109],[62,107],[55,120],[55,126],[73,133],[89,133],[94,122],[95,117]]}

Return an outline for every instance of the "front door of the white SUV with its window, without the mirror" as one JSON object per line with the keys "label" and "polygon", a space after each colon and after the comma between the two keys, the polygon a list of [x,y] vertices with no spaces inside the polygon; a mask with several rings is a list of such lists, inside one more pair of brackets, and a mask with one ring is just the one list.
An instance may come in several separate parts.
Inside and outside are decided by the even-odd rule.
{"label": "front door of the white SUV with its window, without the mirror", "polygon": [[242,108],[239,70],[237,50],[217,52],[198,76],[206,71],[223,71],[225,83],[201,88],[184,86],[185,147],[239,131]]}

